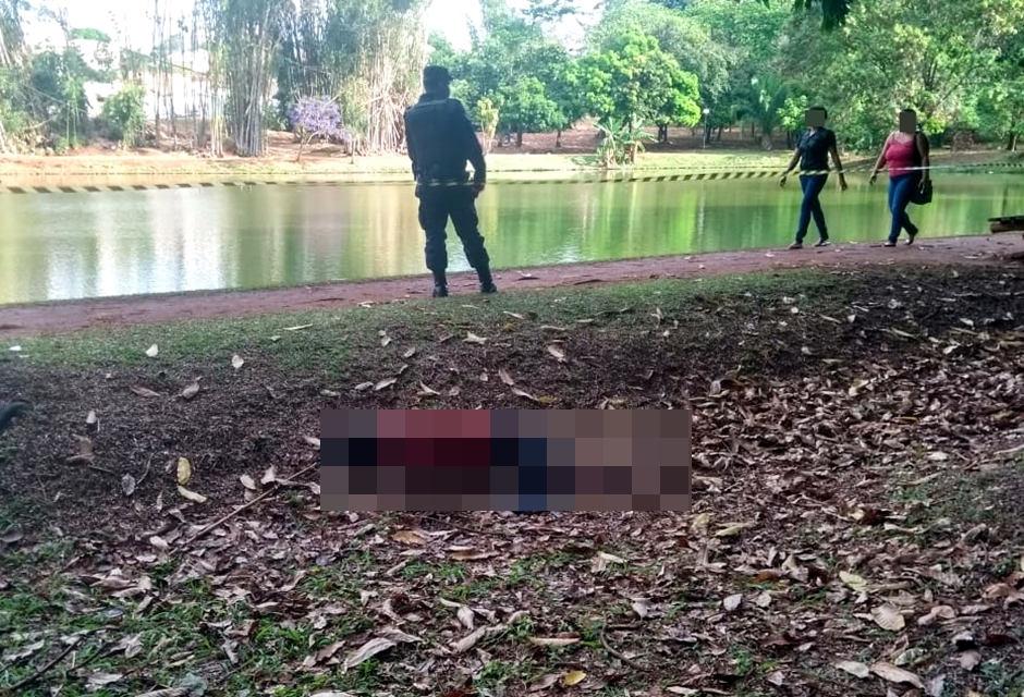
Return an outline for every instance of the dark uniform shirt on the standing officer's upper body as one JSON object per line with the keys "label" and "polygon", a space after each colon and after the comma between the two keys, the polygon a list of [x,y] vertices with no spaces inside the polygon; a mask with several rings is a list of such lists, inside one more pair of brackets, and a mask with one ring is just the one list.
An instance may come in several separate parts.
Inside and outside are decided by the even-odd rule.
{"label": "dark uniform shirt on the standing officer's upper body", "polygon": [[423,95],[405,111],[405,144],[416,181],[466,181],[466,160],[474,181],[487,176],[484,150],[462,102]]}

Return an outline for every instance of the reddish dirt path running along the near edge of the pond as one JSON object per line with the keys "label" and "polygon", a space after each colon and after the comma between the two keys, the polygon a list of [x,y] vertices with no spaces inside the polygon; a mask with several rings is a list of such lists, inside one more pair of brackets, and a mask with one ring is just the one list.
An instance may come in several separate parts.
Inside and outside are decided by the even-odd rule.
{"label": "reddish dirt path running along the near edge of the pond", "polygon": [[[751,249],[704,255],[573,264],[496,272],[499,288],[578,286],[658,278],[697,278],[797,267],[855,267],[944,264],[1009,264],[1007,256],[1024,253],[1016,234],[975,235],[922,241],[914,247],[886,248],[881,244],[840,244],[800,252],[785,248]],[[475,292],[472,274],[453,274],[453,295]],[[126,323],[242,317],[278,311],[345,307],[425,296],[427,276],[326,283],[260,291],[216,291],[169,295],[72,301],[0,307],[0,337],[26,337]]]}

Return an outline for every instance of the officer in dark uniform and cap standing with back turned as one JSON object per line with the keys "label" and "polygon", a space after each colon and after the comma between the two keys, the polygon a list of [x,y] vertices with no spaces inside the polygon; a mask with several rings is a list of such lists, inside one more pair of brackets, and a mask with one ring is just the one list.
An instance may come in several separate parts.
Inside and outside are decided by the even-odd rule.
{"label": "officer in dark uniform and cap standing with back turned", "polygon": [[[484,149],[465,107],[451,98],[451,82],[447,68],[428,65],[423,71],[424,94],[405,111],[405,144],[416,180],[419,225],[427,236],[424,254],[434,273],[434,297],[448,296],[449,218],[479,278],[480,292],[498,291],[476,215],[476,197],[487,181]],[[473,166],[472,183],[466,161]]]}

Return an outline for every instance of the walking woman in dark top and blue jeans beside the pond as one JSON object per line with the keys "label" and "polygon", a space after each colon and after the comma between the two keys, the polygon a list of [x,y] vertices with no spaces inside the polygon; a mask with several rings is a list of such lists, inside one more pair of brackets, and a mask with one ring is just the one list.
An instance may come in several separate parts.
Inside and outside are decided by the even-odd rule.
{"label": "walking woman in dark top and blue jeans beside the pond", "polygon": [[828,181],[828,156],[832,156],[836,162],[836,170],[839,172],[839,186],[846,191],[846,176],[843,174],[842,162],[839,161],[839,149],[836,145],[836,133],[825,127],[825,120],[828,119],[828,111],[825,107],[812,107],[805,115],[807,130],[800,135],[796,142],[796,149],[793,151],[793,159],[785,168],[782,174],[780,186],[785,186],[785,178],[796,167],[800,161],[801,170],[818,172],[817,174],[801,174],[800,187],[804,192],[804,199],[800,205],[800,222],[796,225],[796,241],[790,245],[790,249],[803,249],[804,237],[807,236],[807,229],[810,227],[810,220],[818,229],[818,242],[816,247],[824,247],[829,244],[828,225],[825,223],[825,213],[821,211],[821,201],[818,196],[825,188]]}

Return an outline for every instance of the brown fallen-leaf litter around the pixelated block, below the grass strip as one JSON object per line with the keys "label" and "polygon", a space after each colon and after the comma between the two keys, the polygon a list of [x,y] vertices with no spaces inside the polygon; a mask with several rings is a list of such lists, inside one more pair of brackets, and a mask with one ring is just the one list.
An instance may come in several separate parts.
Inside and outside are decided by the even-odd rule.
{"label": "brown fallen-leaf litter around the pixelated block, below the grass strip", "polygon": [[[1014,468],[1015,454],[992,454],[1024,442],[1024,363],[1012,345],[1024,341],[1024,330],[998,319],[1024,317],[1024,284],[987,273],[961,272],[944,291],[961,297],[938,314],[915,283],[891,277],[858,283],[850,291],[855,299],[821,313],[801,298],[799,315],[782,293],[705,308],[675,308],[659,297],[647,308],[659,326],[678,317],[693,331],[711,332],[709,347],[691,358],[674,344],[680,334],[644,333],[649,318],[607,343],[589,333],[609,331],[604,314],[589,313],[601,319],[577,325],[586,339],[568,335],[562,343],[540,330],[526,341],[533,330],[521,326],[511,348],[503,338],[485,340],[486,350],[470,339],[498,337],[491,327],[463,328],[466,343],[479,346],[452,342],[404,352],[412,378],[386,378],[393,390],[371,390],[381,379],[357,375],[398,371],[400,364],[378,356],[349,376],[345,384],[368,383],[363,390],[334,384],[328,396],[320,391],[330,386],[317,386],[312,394],[319,396],[301,396],[325,404],[348,399],[359,408],[407,408],[420,400],[522,408],[547,406],[538,403],[547,395],[584,408],[688,404],[691,514],[326,511],[312,488],[271,491],[319,456],[318,439],[307,436],[318,432],[318,408],[295,408],[280,424],[267,417],[266,382],[279,380],[275,389],[289,394],[294,376],[239,371],[232,383],[242,387],[235,387],[215,367],[204,368],[203,400],[153,399],[161,395],[148,388],[133,391],[150,399],[115,398],[78,378],[83,389],[61,407],[71,429],[64,433],[73,433],[83,413],[105,415],[89,445],[78,441],[80,458],[101,453],[119,477],[137,476],[139,461],[154,455],[173,465],[166,477],[157,467],[141,478],[131,499],[111,498],[118,479],[68,469],[61,448],[72,436],[27,440],[33,431],[13,429],[4,481],[23,477],[25,486],[9,488],[40,497],[48,519],[77,551],[57,568],[4,566],[0,578],[8,585],[20,578],[14,583],[25,587],[33,578],[61,578],[82,588],[78,598],[139,617],[158,606],[200,603],[209,639],[161,621],[169,639],[161,646],[154,643],[159,635],[108,622],[95,640],[121,646],[118,652],[77,674],[52,669],[54,677],[83,687],[131,684],[133,694],[227,661],[251,689],[307,685],[306,694],[363,694],[358,676],[365,674],[394,694],[410,685],[454,694],[474,676],[491,690],[485,667],[497,662],[509,667],[510,694],[614,683],[643,694],[773,694],[784,686],[794,695],[904,695],[932,694],[939,685],[991,697],[998,693],[980,669],[1024,658],[1024,543],[1008,525],[1016,517],[1001,517],[999,508],[1024,493],[1024,476]],[[964,297],[966,289],[988,295]],[[832,319],[848,315],[857,321]],[[964,327],[961,318],[972,319],[973,334],[950,331]],[[771,359],[761,356],[758,365],[756,351],[743,360],[721,355],[728,352],[714,332],[727,330],[756,351],[775,351]],[[401,345],[414,341],[398,328],[389,332]],[[843,344],[845,351],[837,350]],[[573,360],[552,360],[558,356],[548,346],[562,356],[571,348]],[[515,366],[515,380],[503,366]],[[593,381],[580,376],[592,376],[595,366],[602,380],[592,390]],[[173,395],[181,384],[197,384],[197,367],[187,375],[183,368],[174,384],[174,376],[161,382],[145,369],[115,380],[122,390],[149,384]],[[648,369],[649,380],[636,382],[633,376]],[[463,379],[485,371],[499,379]],[[54,378],[47,384],[68,384],[66,374]],[[19,389],[31,379],[15,366],[4,371],[2,387]],[[125,424],[139,427],[119,438]],[[26,444],[36,447],[32,467]],[[167,452],[175,448],[183,454]],[[52,465],[48,453],[57,455]],[[987,511],[984,521],[972,517],[979,510]],[[209,535],[195,536],[232,513]],[[100,530],[119,530],[120,541]],[[176,563],[168,567],[168,560]],[[192,590],[196,583],[208,589],[200,597]],[[75,597],[64,602],[63,621],[92,621]],[[269,626],[280,627],[273,641],[266,638]],[[60,650],[52,640],[38,646],[27,626],[22,634],[12,636],[10,650],[29,652],[22,659],[27,672]],[[172,641],[178,652],[155,660]],[[533,670],[517,671],[527,658]],[[305,682],[313,680],[318,689]]]}

